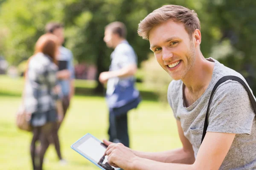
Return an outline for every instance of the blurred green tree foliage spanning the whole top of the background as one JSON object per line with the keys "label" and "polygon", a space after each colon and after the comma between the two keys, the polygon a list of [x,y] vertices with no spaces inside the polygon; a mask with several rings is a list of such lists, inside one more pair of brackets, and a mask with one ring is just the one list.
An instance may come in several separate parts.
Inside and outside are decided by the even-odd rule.
{"label": "blurred green tree foliage spanning the whole top of the background", "polygon": [[0,4],[0,54],[11,64],[31,56],[44,25],[55,20],[65,24],[65,46],[75,59],[96,64],[99,72],[106,71],[112,49],[103,42],[104,27],[117,20],[127,26],[127,39],[140,65],[151,52],[149,42],[137,35],[138,23],[154,9],[176,4],[198,13],[204,57],[224,50],[218,57],[221,62],[244,76],[255,77],[255,71],[247,68],[248,63],[256,66],[255,0],[0,0]]}

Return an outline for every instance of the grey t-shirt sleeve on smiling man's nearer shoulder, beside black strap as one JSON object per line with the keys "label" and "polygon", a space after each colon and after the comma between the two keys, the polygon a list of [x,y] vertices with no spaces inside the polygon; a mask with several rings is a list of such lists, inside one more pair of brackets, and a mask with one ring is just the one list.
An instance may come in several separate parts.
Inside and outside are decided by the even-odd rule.
{"label": "grey t-shirt sleeve on smiling man's nearer shoulder, beside black strap", "polygon": [[212,98],[208,132],[250,134],[255,116],[249,95],[239,82],[221,84]]}

